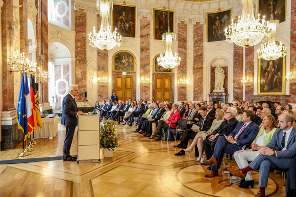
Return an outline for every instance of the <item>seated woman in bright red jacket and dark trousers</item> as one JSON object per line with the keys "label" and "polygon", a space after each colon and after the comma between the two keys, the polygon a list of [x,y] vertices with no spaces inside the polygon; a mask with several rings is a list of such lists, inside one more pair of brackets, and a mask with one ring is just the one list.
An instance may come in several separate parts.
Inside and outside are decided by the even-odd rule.
{"label": "seated woman in bright red jacket and dark trousers", "polygon": [[155,141],[161,140],[162,135],[162,129],[168,129],[170,128],[177,128],[177,124],[180,119],[180,112],[177,110],[178,104],[174,103],[172,104],[173,111],[171,112],[169,118],[166,121],[160,120],[157,129],[154,135],[158,135],[158,138],[154,139]]}

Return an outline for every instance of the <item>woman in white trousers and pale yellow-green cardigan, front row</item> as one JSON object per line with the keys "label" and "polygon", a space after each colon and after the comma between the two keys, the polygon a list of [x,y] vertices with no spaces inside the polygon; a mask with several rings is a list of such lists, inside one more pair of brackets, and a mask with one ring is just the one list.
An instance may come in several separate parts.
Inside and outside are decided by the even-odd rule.
{"label": "woman in white trousers and pale yellow-green cardigan, front row", "polygon": [[[275,117],[272,115],[264,116],[262,125],[263,126],[251,144],[252,150],[240,150],[234,153],[233,156],[239,168],[248,166],[248,161],[253,161],[259,155],[258,150],[270,142],[274,132],[278,128]],[[249,186],[252,188],[254,187],[254,181],[251,172],[248,172],[244,180],[238,185],[240,188],[248,188]]]}

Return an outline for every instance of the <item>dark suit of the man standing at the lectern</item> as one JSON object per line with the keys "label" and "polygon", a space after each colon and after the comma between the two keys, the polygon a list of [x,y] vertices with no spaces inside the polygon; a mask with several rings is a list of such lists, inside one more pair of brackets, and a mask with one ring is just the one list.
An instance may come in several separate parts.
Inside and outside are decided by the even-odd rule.
{"label": "dark suit of the man standing at the lectern", "polygon": [[66,136],[64,141],[63,157],[67,158],[70,155],[70,148],[77,126],[77,104],[70,94],[67,94],[63,99],[63,112],[61,124],[66,126]]}

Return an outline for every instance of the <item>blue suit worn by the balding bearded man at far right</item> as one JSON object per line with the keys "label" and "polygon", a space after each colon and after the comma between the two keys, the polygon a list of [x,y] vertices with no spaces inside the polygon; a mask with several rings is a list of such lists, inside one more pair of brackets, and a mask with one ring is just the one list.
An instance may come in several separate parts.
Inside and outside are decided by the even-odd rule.
{"label": "blue suit worn by the balding bearded man at far right", "polygon": [[296,158],[296,128],[292,127],[287,144],[287,150],[279,150],[283,139],[283,130],[278,128],[274,133],[272,140],[265,146],[276,150],[276,156],[258,155],[249,165],[253,170],[259,168],[259,186],[267,187],[269,168],[280,167],[289,169],[292,159]]}

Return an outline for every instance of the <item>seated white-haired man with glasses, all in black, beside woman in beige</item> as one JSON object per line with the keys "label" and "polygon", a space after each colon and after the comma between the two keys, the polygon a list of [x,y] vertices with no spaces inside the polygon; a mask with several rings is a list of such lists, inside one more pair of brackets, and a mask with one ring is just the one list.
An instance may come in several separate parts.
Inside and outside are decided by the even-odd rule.
{"label": "seated white-haired man with glasses, all in black, beside woman in beige", "polygon": [[[240,108],[240,107],[239,107]],[[225,112],[224,119],[220,126],[214,130],[214,132],[206,136],[206,139],[203,141],[203,147],[207,156],[207,159],[210,159],[213,155],[214,148],[219,137],[228,136],[236,127],[238,121],[235,118],[237,114],[235,107],[229,107]],[[202,163],[203,165],[203,163]]]}

